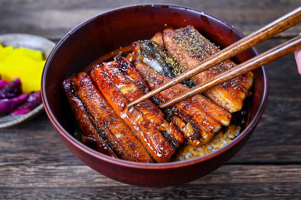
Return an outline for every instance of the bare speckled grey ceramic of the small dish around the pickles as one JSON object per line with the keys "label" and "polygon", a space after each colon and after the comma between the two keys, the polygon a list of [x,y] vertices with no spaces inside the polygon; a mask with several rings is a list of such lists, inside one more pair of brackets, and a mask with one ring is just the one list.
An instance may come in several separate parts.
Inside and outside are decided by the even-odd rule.
{"label": "bare speckled grey ceramic of the small dish around the pickles", "polygon": [[[43,52],[44,59],[48,57],[55,43],[40,36],[31,34],[2,34],[0,35],[0,44],[4,46],[13,46],[14,48],[25,47]],[[0,117],[0,128],[7,128],[24,121],[27,121],[41,113],[44,110],[43,104],[24,115],[5,115]]]}

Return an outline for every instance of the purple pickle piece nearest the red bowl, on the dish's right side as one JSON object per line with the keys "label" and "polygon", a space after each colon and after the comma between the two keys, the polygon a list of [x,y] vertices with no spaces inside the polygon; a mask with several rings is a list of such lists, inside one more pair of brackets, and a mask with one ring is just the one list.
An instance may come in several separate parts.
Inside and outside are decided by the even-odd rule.
{"label": "purple pickle piece nearest the red bowl, on the dish's right side", "polygon": [[28,95],[26,101],[18,106],[16,109],[10,113],[13,115],[22,115],[26,114],[29,111],[33,110],[42,103],[41,91],[32,92]]}

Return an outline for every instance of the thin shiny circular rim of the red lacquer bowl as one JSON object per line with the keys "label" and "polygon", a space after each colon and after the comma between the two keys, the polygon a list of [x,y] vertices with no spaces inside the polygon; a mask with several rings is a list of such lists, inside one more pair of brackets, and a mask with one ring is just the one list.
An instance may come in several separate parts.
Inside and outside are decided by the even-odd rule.
{"label": "thin shiny circular rim of the red lacquer bowl", "polygon": [[[173,7],[175,9],[185,9],[189,12],[197,12],[201,15],[209,16],[210,18],[213,18],[213,19],[218,20],[219,22],[222,22],[223,24],[228,26],[230,29],[235,31],[241,37],[245,37],[242,32],[237,30],[237,28],[233,27],[228,22],[225,22],[225,21],[223,21],[223,20],[221,20],[221,19],[219,19],[215,16],[212,16],[210,14],[207,14],[203,11],[199,11],[199,10],[196,10],[196,9],[193,9],[193,8],[190,8],[190,7],[174,5],[174,4],[151,4],[151,3],[148,3],[148,4],[134,4],[134,5],[123,6],[123,7],[114,8],[112,10],[108,10],[106,12],[103,12],[103,13],[100,13],[98,15],[92,16],[90,19],[85,20],[84,22],[82,22],[79,25],[77,25],[76,27],[74,27],[67,34],[65,34],[64,37],[62,37],[62,39],[56,44],[56,46],[51,51],[51,53],[48,56],[47,61],[45,63],[45,67],[43,69],[42,82],[41,82],[43,104],[45,106],[45,111],[46,111],[52,125],[57,130],[57,133],[60,134],[61,136],[63,136],[68,142],[70,142],[73,146],[78,148],[80,151],[83,151],[86,154],[89,154],[90,156],[97,158],[98,160],[102,160],[104,162],[114,164],[114,165],[120,165],[120,166],[123,166],[123,167],[135,168],[135,169],[167,169],[167,168],[168,169],[175,169],[175,168],[195,165],[197,163],[201,163],[201,162],[204,162],[206,160],[210,160],[213,157],[219,156],[220,154],[230,150],[235,145],[237,145],[241,140],[243,140],[245,137],[247,137],[247,135],[250,133],[250,130],[253,130],[256,127],[256,125],[258,124],[258,122],[259,122],[259,120],[260,120],[260,118],[261,118],[261,116],[264,112],[264,109],[265,109],[265,106],[266,106],[266,103],[267,103],[267,100],[268,100],[269,83],[268,83],[268,75],[267,75],[267,72],[265,71],[265,67],[262,66],[261,69],[262,69],[263,79],[264,79],[263,98],[261,99],[260,104],[259,104],[259,109],[256,112],[256,114],[254,115],[254,117],[251,120],[250,124],[247,127],[245,127],[244,131],[242,131],[232,142],[225,145],[223,148],[220,148],[220,149],[218,149],[218,150],[216,150],[216,151],[214,151],[210,154],[204,155],[202,157],[192,158],[192,159],[188,159],[188,160],[184,160],[184,161],[168,162],[168,163],[136,163],[136,162],[132,162],[132,161],[112,158],[112,157],[107,156],[105,154],[101,154],[98,151],[95,151],[95,150],[85,146],[84,144],[82,144],[81,142],[76,140],[67,130],[65,130],[64,127],[61,126],[61,124],[57,121],[57,119],[54,117],[53,113],[51,112],[51,108],[49,106],[49,103],[48,103],[48,100],[47,100],[47,95],[46,95],[46,92],[45,92],[46,91],[45,90],[46,71],[48,70],[48,66],[51,62],[52,56],[54,55],[54,53],[56,52],[58,47],[61,46],[61,44],[64,42],[64,40],[66,38],[68,38],[68,37],[70,37],[70,35],[72,35],[73,31],[76,31],[76,29],[81,28],[86,23],[91,22],[92,20],[94,20],[94,19],[96,19],[100,16],[104,16],[104,15],[107,15],[107,14],[110,14],[110,13],[118,12],[120,10],[129,9],[129,8],[133,8],[133,7],[157,7],[157,6],[161,6],[161,7],[162,6],[168,6],[168,7]],[[253,52],[256,55],[258,55],[258,52],[254,47],[252,47],[251,49],[253,50]]]}

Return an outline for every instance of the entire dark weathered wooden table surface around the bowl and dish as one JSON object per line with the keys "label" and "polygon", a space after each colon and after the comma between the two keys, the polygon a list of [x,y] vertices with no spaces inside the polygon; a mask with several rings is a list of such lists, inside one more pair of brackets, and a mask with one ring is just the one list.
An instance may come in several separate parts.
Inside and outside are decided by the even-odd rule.
{"label": "entire dark weathered wooden table surface around the bowl and dish", "polygon": [[[250,34],[300,1],[153,1],[217,16]],[[0,1],[0,34],[31,33],[58,41],[105,10],[147,1]],[[260,44],[259,52],[299,34],[301,25]],[[266,66],[270,93],[251,139],[226,165],[188,184],[141,188],[98,174],[61,142],[45,113],[0,130],[0,199],[300,199],[301,75],[293,55]],[[1,70],[1,69],[0,69]],[[201,169],[200,169],[201,170]]]}

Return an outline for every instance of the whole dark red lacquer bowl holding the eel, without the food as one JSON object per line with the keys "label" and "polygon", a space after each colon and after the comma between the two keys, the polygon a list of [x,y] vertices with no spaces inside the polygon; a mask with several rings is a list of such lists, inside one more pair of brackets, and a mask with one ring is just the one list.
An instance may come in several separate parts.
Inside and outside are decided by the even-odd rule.
{"label": "whole dark red lacquer bowl holding the eel, without the food", "polygon": [[[97,172],[126,184],[166,187],[203,177],[230,160],[247,142],[258,124],[268,99],[264,68],[254,71],[253,96],[246,125],[230,144],[200,158],[173,163],[134,163],[113,159],[78,142],[70,134],[75,124],[60,88],[65,76],[81,72],[100,56],[133,41],[149,39],[164,28],[193,25],[222,48],[244,35],[228,23],[206,13],[175,5],[135,5],[102,13],[66,34],[49,55],[42,75],[43,103],[51,123],[70,151]],[[234,58],[237,63],[257,55],[254,48]]]}

